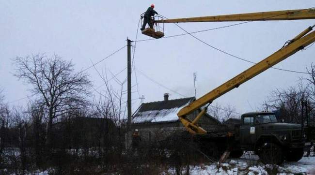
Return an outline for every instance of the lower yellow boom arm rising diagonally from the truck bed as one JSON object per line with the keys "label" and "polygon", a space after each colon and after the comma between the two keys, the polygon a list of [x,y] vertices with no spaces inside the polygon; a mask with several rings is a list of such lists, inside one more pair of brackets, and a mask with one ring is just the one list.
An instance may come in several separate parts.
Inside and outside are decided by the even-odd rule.
{"label": "lower yellow boom arm rising diagonally from the truck bed", "polygon": [[225,82],[221,86],[213,89],[212,91],[205,94],[201,98],[190,103],[188,106],[182,108],[177,114],[180,121],[184,124],[184,126],[188,129],[190,133],[205,134],[206,131],[203,128],[199,127],[196,124],[196,122],[199,120],[200,117],[203,116],[203,114],[206,111],[206,108],[203,109],[201,113],[193,121],[187,118],[186,115],[201,108],[207,103],[211,103],[213,100],[217,99],[221,95],[227,93],[228,91],[232,90],[235,87],[240,86],[241,84],[250,80],[252,77],[258,75],[259,73],[264,72],[268,68],[274,66],[275,64],[284,60],[285,58],[288,58],[289,56],[303,49],[305,46],[315,42],[315,31],[310,32],[313,29],[313,27],[309,27],[305,29],[299,35],[297,35],[294,39],[292,39],[288,43],[288,45],[285,45],[284,47],[282,47],[280,50],[276,51],[269,57],[253,65],[246,71],[239,73],[238,75],[236,75],[229,81]]}

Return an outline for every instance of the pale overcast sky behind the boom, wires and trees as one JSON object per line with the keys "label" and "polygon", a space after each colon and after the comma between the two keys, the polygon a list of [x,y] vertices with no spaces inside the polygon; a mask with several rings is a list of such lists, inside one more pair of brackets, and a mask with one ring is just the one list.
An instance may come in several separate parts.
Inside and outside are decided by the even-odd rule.
{"label": "pale overcast sky behind the boom, wires and trees", "polygon": [[[155,10],[168,18],[225,15],[263,11],[303,9],[315,6],[314,0],[0,0],[0,87],[7,102],[25,105],[29,88],[12,75],[11,58],[31,54],[57,54],[72,60],[82,70],[135,40],[140,14],[155,3]],[[210,29],[237,22],[182,23],[188,31]],[[314,19],[296,21],[257,21],[234,27],[195,34],[206,43],[254,62],[281,48],[285,41],[315,24]],[[184,33],[174,24],[165,24],[165,36]],[[140,30],[139,30],[140,31]],[[138,34],[138,40],[149,39]],[[305,72],[314,60],[315,47],[299,51],[275,67]],[[119,73],[126,67],[126,48],[97,64]],[[137,42],[135,66],[139,94],[144,102],[194,96],[193,73],[197,72],[197,97],[221,85],[252,66],[251,63],[225,55],[189,35]],[[173,89],[176,94],[148,79]],[[88,70],[95,87],[103,84],[96,71]],[[244,113],[260,107],[271,90],[295,86],[303,74],[267,70],[215,102],[231,104]],[[110,77],[110,75],[109,75]],[[126,78],[126,70],[118,75]],[[132,85],[136,85],[135,73]],[[117,87],[114,81],[110,82]],[[100,87],[102,90],[104,87]],[[118,87],[117,87],[118,88]],[[137,86],[133,87],[133,109],[140,104]],[[96,94],[96,93],[95,93]],[[15,101],[15,102],[13,102]]]}

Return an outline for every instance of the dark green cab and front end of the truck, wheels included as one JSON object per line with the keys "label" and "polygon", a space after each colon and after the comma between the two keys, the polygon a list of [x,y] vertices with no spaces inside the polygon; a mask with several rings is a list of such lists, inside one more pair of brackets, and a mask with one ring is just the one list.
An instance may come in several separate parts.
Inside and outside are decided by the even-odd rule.
{"label": "dark green cab and front end of the truck, wheels included", "polygon": [[239,140],[242,150],[255,151],[264,163],[277,164],[300,160],[313,145],[300,124],[279,122],[272,112],[243,114]]}

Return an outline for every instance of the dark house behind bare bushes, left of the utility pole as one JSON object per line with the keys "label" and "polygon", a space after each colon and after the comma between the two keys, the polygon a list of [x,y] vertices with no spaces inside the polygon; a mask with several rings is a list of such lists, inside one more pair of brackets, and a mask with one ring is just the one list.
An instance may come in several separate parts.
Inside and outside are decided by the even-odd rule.
{"label": "dark house behind bare bushes, left of the utility pole", "polygon": [[118,127],[108,118],[73,117],[53,127],[57,147],[111,147],[117,145]]}

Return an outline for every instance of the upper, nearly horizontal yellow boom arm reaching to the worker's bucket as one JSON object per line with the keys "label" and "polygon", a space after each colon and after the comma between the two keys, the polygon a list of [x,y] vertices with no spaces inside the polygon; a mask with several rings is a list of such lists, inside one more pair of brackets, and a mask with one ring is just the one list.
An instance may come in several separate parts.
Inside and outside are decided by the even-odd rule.
{"label": "upper, nearly horizontal yellow boom arm reaching to the worker's bucket", "polygon": [[235,14],[235,15],[216,15],[216,16],[164,19],[164,20],[157,20],[155,21],[155,23],[267,21],[267,20],[296,20],[296,19],[314,19],[314,18],[315,18],[315,9],[311,8],[311,9]]}

